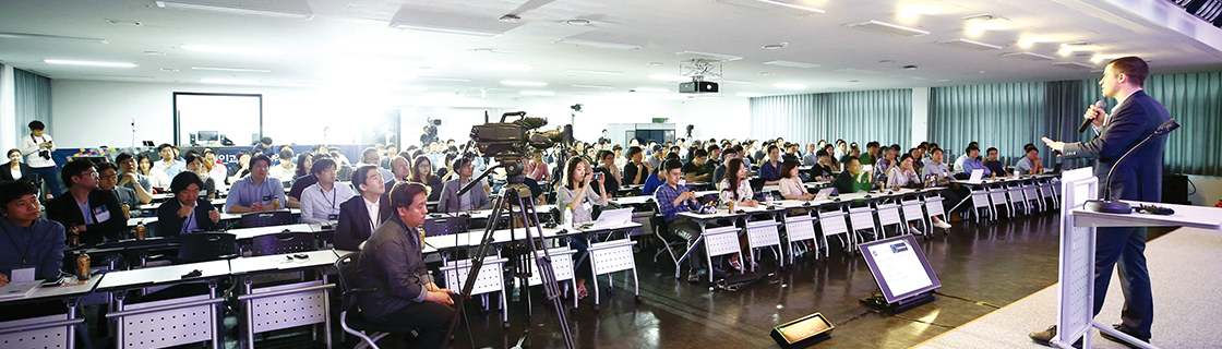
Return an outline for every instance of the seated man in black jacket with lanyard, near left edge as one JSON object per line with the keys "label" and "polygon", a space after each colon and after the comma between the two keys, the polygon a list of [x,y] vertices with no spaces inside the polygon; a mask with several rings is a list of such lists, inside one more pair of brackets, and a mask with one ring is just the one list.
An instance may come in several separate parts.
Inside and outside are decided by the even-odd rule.
{"label": "seated man in black jacket with lanyard, near left edge", "polygon": [[[119,240],[127,232],[119,198],[109,190],[98,189],[98,171],[88,159],[76,159],[64,165],[60,172],[68,193],[46,203],[46,218],[60,222],[68,234],[76,231],[82,244]],[[70,237],[71,238],[71,237]]]}

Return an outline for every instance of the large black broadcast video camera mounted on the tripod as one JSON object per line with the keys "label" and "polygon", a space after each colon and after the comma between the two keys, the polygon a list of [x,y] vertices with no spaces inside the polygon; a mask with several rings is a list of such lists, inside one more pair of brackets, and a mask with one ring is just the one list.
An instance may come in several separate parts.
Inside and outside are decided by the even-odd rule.
{"label": "large black broadcast video camera mounted on the tripod", "polygon": [[[510,116],[522,118],[505,122]],[[546,124],[546,118],[527,117],[525,111],[506,112],[501,115],[501,122],[472,126],[470,139],[484,156],[503,164],[506,174],[513,177],[522,174],[522,160],[530,157],[532,150],[573,144],[573,126],[566,124],[546,132],[533,131]]]}

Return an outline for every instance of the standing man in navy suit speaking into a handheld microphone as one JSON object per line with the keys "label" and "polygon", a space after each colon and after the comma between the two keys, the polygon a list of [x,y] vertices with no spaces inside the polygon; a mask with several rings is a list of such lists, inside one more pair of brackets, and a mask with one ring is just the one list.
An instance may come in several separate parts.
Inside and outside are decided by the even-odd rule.
{"label": "standing man in navy suit speaking into a handheld microphone", "polygon": [[[1107,173],[1116,167],[1111,178],[1111,194],[1121,200],[1162,201],[1162,153],[1167,139],[1151,139],[1133,150],[1158,126],[1171,118],[1167,107],[1146,95],[1141,89],[1150,68],[1139,57],[1122,57],[1107,63],[1103,78],[1099,81],[1103,96],[1118,100],[1108,115],[1099,106],[1090,106],[1085,118],[1092,120],[1099,132],[1091,142],[1062,143],[1044,138],[1048,148],[1061,151],[1062,159],[1097,159],[1095,176],[1107,183]],[[1116,164],[1129,150],[1128,160]],[[1100,185],[1100,198],[1103,187]],[[1097,228],[1095,237],[1095,315],[1103,306],[1107,284],[1112,279],[1113,265],[1121,271],[1124,289],[1122,323],[1117,329],[1138,339],[1150,342],[1150,323],[1154,321],[1154,299],[1150,294],[1150,272],[1145,264],[1146,228],[1108,227]],[[1118,264],[1117,264],[1118,262]],[[1056,336],[1056,327],[1031,333],[1031,339],[1041,344]],[[1107,333],[1103,338],[1118,340]]]}

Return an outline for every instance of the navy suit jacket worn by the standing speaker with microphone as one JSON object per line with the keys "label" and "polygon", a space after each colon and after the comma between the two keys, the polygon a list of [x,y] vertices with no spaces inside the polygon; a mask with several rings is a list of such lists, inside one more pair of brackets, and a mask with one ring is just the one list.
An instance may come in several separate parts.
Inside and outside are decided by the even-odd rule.
{"label": "navy suit jacket worn by the standing speaker with microphone", "polygon": [[1100,128],[1099,137],[1086,143],[1066,144],[1062,159],[1097,159],[1095,176],[1099,177],[1100,199],[1112,173],[1112,196],[1122,200],[1162,201],[1162,153],[1167,138],[1151,139],[1129,154],[1124,162],[1116,164],[1124,153],[1136,146],[1158,126],[1171,118],[1161,103],[1146,95],[1145,90],[1133,93],[1124,104],[1112,111],[1112,118]]}

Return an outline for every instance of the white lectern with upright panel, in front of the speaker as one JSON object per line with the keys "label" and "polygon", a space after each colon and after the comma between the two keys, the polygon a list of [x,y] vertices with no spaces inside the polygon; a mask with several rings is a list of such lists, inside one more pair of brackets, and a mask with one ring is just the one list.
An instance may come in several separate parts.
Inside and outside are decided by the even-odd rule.
{"label": "white lectern with upright panel, in front of the speaker", "polygon": [[1129,201],[1130,205],[1151,204],[1176,210],[1168,216],[1146,214],[1103,214],[1083,209],[1086,200],[1099,194],[1099,178],[1091,168],[1067,171],[1061,177],[1061,275],[1058,276],[1057,337],[1052,344],[1072,349],[1078,338],[1090,348],[1090,329],[1107,332],[1140,348],[1157,348],[1095,321],[1095,228],[1099,227],[1194,227],[1222,229],[1222,209]]}

